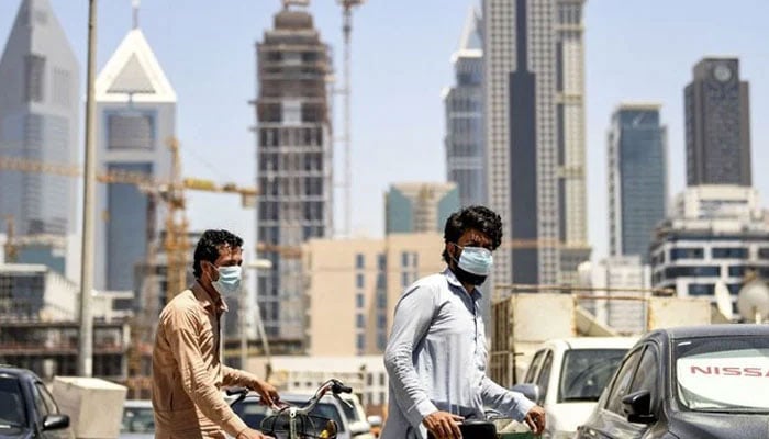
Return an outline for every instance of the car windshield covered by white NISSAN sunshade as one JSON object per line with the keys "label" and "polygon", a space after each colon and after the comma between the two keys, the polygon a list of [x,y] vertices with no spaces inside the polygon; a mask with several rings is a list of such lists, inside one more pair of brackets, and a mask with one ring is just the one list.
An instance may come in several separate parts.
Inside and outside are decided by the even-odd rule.
{"label": "car windshield covered by white NISSAN sunshade", "polygon": [[676,391],[701,412],[769,413],[769,340],[709,337],[675,346]]}

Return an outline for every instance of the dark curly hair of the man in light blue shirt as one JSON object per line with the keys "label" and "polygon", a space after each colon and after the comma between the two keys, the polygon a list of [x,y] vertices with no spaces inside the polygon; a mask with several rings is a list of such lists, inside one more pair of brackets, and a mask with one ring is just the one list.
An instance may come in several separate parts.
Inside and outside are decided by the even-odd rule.
{"label": "dark curly hair of the man in light blue shirt", "polygon": [[[452,214],[446,219],[443,239],[455,243],[465,232],[476,229],[491,239],[491,249],[495,250],[502,244],[502,217],[494,211],[482,205],[467,206]],[[443,260],[449,263],[448,251],[444,248]]]}

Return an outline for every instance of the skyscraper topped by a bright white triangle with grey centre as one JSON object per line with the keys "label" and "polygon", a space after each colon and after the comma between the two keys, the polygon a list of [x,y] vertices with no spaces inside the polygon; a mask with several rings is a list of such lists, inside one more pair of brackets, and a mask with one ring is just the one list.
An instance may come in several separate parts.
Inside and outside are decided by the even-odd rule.
{"label": "skyscraper topped by a bright white triangle with grey centre", "polygon": [[[99,72],[96,102],[99,172],[168,179],[176,92],[136,23]],[[148,240],[161,228],[161,207],[134,184],[97,189],[97,289],[134,289],[134,270],[145,262]]]}

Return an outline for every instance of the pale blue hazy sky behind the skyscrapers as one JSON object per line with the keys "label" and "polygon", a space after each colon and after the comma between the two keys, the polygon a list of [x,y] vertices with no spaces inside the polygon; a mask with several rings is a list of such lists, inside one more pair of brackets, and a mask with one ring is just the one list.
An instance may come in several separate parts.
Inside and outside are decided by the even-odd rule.
{"label": "pale blue hazy sky behind the skyscrapers", "polygon": [[[45,0],[44,0],[45,1]],[[87,0],[48,0],[81,63],[85,85]],[[512,0],[511,0],[512,1]],[[4,45],[20,0],[0,0]],[[355,11],[353,36],[353,230],[381,236],[391,182],[445,179],[441,90],[469,0],[369,0]],[[254,184],[255,47],[279,0],[144,0],[141,27],[179,98],[183,173]],[[311,11],[341,72],[341,10],[313,0]],[[589,236],[593,257],[608,247],[605,133],[621,101],[659,102],[668,126],[670,194],[684,182],[683,87],[707,55],[740,58],[750,82],[754,184],[769,200],[769,33],[766,0],[588,0],[587,136]],[[100,70],[131,27],[131,0],[99,1]],[[83,91],[85,95],[85,91]],[[341,108],[337,101],[336,109]],[[82,119],[81,119],[82,120]],[[342,122],[336,130],[341,132]],[[82,145],[80,145],[82,147]],[[336,162],[341,165],[342,151]],[[343,176],[337,167],[337,180]],[[336,196],[342,224],[342,194]],[[225,227],[254,243],[254,215],[234,195],[192,193],[191,228]]]}

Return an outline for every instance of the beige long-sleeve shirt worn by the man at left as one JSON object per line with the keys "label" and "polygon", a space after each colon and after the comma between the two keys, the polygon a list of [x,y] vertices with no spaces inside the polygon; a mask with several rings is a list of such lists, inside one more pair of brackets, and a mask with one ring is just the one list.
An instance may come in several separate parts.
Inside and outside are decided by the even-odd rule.
{"label": "beige long-sleeve shirt worn by the man at left", "polygon": [[247,428],[220,392],[257,378],[221,362],[220,320],[227,309],[196,283],[160,313],[153,349],[155,438],[224,438]]}

